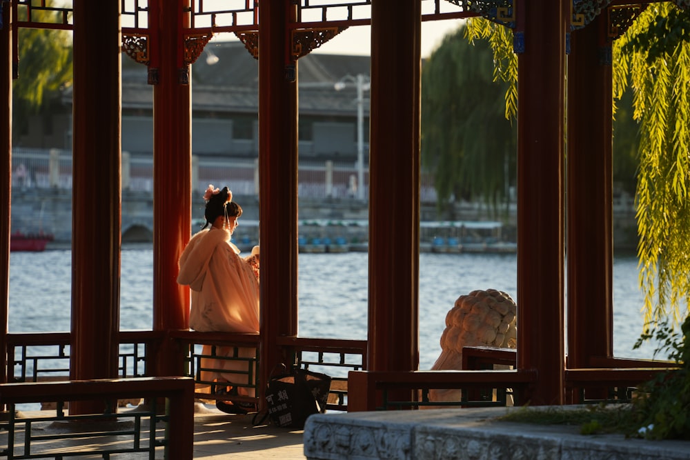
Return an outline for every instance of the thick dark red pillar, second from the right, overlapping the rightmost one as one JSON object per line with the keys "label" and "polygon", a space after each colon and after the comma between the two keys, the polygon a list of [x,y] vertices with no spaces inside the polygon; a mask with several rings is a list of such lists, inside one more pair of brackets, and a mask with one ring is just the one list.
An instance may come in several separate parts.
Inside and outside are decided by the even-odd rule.
{"label": "thick dark red pillar, second from the right, overlapping the rightmost one", "polygon": [[[564,401],[565,0],[520,2],[517,114],[517,366],[538,370],[533,405]],[[524,46],[524,49],[520,49]]]}

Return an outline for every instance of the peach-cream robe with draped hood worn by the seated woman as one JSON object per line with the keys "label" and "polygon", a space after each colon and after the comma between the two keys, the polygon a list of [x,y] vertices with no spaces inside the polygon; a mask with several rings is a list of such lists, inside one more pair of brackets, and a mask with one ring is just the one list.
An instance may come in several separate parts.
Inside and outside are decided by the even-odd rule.
{"label": "peach-cream robe with draped hood worn by the seated woman", "polygon": [[[259,332],[259,281],[250,263],[239,256],[239,249],[230,242],[228,230],[201,230],[190,239],[179,259],[177,282],[191,289],[189,324],[193,330]],[[204,346],[203,352],[210,354],[210,346]],[[217,347],[216,352],[219,356],[232,356],[233,348]],[[238,352],[244,358],[256,354],[255,348],[239,348]],[[246,372],[246,363],[202,359],[201,366],[218,370],[202,372],[201,379],[205,381],[247,383],[245,375],[233,373]],[[239,394],[254,392],[251,388],[239,388]]]}

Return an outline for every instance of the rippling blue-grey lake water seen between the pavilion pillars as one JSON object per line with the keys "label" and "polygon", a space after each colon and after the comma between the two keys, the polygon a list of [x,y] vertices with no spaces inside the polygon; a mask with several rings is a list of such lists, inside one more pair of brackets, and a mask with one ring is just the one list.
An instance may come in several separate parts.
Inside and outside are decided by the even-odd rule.
{"label": "rippling blue-grey lake water seen between the pavilion pillars", "polygon": [[[10,253],[10,332],[70,328],[71,251]],[[121,330],[152,327],[153,252],[124,249],[121,256]],[[517,299],[515,254],[420,254],[420,369],[440,354],[446,312],[457,297],[497,289]],[[366,252],[299,254],[299,336],[366,339]],[[655,343],[633,350],[644,321],[635,257],[613,263],[613,351],[617,357],[650,358]],[[519,308],[519,306],[518,306]],[[665,359],[665,356],[658,358]]]}

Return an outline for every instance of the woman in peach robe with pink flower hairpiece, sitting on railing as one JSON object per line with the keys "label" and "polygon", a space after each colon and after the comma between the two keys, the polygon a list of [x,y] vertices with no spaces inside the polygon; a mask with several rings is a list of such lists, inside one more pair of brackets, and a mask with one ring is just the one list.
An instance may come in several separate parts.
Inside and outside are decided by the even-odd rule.
{"label": "woman in peach robe with pink flower hairpiece, sitting on railing", "polygon": [[[204,194],[206,223],[190,239],[179,259],[177,282],[191,289],[190,328],[200,332],[259,332],[259,247],[252,255],[240,257],[230,238],[237,228],[242,207],[233,201],[233,193],[208,186]],[[219,394],[254,397],[248,373],[256,376],[255,348],[217,346],[208,358],[211,346],[204,346],[201,381],[213,385]],[[209,385],[197,390],[211,391]],[[216,406],[231,413],[246,413],[250,408],[217,400]],[[250,405],[253,408],[253,405]]]}

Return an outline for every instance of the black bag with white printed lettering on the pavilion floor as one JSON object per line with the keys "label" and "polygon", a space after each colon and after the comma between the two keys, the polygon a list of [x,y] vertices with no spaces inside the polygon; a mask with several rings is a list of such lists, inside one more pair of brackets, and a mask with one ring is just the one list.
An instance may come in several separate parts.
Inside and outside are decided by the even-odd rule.
{"label": "black bag with white printed lettering on the pavilion floor", "polygon": [[266,388],[268,417],[275,426],[302,429],[311,414],[326,412],[330,390],[331,377],[302,368],[271,377]]}

